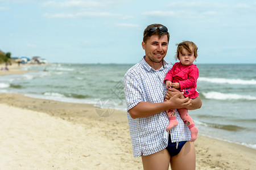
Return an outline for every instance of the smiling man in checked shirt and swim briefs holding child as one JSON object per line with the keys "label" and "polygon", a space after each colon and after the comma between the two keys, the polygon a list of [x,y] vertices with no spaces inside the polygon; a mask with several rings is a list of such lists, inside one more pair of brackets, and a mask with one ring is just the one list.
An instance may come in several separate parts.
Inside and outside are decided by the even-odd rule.
{"label": "smiling man in checked shirt and swim briefs holding child", "polygon": [[[163,80],[172,66],[163,58],[169,39],[164,25],[148,25],[142,41],[145,56],[123,78],[133,154],[142,156],[144,169],[168,169],[169,164],[172,169],[195,169],[195,147],[179,114],[179,124],[170,132],[165,130],[169,122],[166,110],[201,107],[200,97],[180,99],[183,94],[175,89],[166,94]],[[164,101],[165,95],[169,100]]]}

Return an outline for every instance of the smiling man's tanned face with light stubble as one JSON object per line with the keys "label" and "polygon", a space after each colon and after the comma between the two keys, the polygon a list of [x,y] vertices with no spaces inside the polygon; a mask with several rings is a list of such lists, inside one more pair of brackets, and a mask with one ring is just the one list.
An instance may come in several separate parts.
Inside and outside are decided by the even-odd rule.
{"label": "smiling man's tanned face with light stubble", "polygon": [[[142,48],[145,50],[146,61],[150,63],[160,63],[166,56],[168,49],[167,35],[159,38],[158,35],[152,35],[147,42],[142,42]],[[150,65],[150,63],[148,63]]]}

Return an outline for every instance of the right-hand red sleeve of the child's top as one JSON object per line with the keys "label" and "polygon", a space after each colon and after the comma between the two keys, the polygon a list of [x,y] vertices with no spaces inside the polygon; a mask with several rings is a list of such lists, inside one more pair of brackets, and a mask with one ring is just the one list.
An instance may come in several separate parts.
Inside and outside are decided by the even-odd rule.
{"label": "right-hand red sleeve of the child's top", "polygon": [[188,70],[188,79],[180,81],[180,88],[196,87],[196,82],[199,77],[199,69],[194,66]]}

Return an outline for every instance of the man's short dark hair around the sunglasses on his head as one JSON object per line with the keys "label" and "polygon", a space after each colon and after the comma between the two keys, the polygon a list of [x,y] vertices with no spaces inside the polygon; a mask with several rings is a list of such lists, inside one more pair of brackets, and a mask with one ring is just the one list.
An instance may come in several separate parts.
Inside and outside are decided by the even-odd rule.
{"label": "man's short dark hair around the sunglasses on his head", "polygon": [[164,36],[164,35],[167,35],[167,39],[168,39],[168,43],[169,43],[169,40],[170,40],[170,34],[169,32],[162,32],[160,31],[159,28],[155,29],[155,31],[151,32],[151,31],[148,31],[149,28],[151,27],[160,27],[160,26],[164,26],[162,24],[151,24],[151,25],[148,25],[146,29],[144,29],[144,33],[143,33],[143,42],[147,42],[148,38],[152,35],[158,35],[159,38]]}

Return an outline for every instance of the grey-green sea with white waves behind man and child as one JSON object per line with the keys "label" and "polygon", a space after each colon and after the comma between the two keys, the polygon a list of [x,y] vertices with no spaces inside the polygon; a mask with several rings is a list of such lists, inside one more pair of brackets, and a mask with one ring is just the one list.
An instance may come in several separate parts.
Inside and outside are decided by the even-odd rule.
{"label": "grey-green sea with white waves behind man and child", "polygon": [[[203,105],[189,111],[189,115],[199,134],[256,149],[256,65],[196,65],[200,70],[197,91]],[[122,79],[131,66],[133,64],[24,65],[22,70],[36,72],[0,76],[0,93],[100,104],[126,111]]]}

